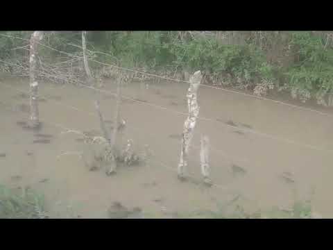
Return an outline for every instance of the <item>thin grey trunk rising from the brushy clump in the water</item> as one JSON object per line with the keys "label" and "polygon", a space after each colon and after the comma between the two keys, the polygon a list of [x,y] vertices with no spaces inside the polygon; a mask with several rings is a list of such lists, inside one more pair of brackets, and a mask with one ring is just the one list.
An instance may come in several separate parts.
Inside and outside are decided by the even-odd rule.
{"label": "thin grey trunk rising from the brushy clump in the water", "polygon": [[117,81],[117,103],[116,110],[114,112],[114,126],[112,131],[111,138],[111,149],[112,149],[112,163],[110,163],[109,168],[107,169],[106,174],[110,175],[116,172],[117,169],[117,161],[116,161],[116,146],[117,146],[117,132],[118,132],[118,124],[119,124],[119,116],[120,116],[120,106],[121,106],[121,81],[122,74],[119,73],[118,81]]}

